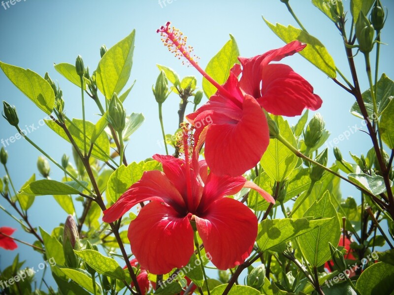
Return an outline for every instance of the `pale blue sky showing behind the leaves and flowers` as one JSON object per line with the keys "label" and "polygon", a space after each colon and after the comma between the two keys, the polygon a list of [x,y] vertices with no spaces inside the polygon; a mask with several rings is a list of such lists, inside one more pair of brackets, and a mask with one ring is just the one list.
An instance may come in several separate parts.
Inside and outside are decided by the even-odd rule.
{"label": "pale blue sky showing behind the leaves and flowers", "polygon": [[[99,62],[100,46],[105,44],[108,48],[111,47],[135,28],[134,63],[129,85],[134,79],[137,82],[125,102],[125,107],[129,114],[142,112],[146,119],[140,129],[131,136],[126,155],[131,162],[143,160],[154,153],[164,153],[164,148],[157,144],[162,137],[157,104],[151,90],[158,75],[156,63],[172,67],[180,76],[196,75],[198,86],[201,86],[201,77],[194,68],[183,66],[173,58],[164,48],[156,29],[171,21],[188,36],[189,45],[195,48],[196,55],[200,57],[199,63],[205,67],[209,59],[229,39],[229,33],[237,40],[240,53],[244,57],[255,56],[283,46],[284,43],[263,23],[262,15],[272,23],[296,26],[285,5],[279,0],[173,0],[172,3],[168,1],[165,6],[162,3],[163,7],[157,0],[21,0],[7,9],[0,6],[0,60],[30,68],[42,76],[48,71],[52,79],[63,89],[67,116],[81,118],[79,89],[58,74],[53,68],[53,63],[74,63],[77,55],[81,55],[85,65],[89,65],[92,72]],[[291,2],[304,26],[326,45],[337,66],[350,78],[341,37],[331,21],[308,0]],[[345,0],[345,6],[349,5],[349,2]],[[393,2],[383,2],[392,13]],[[382,35],[382,41],[389,46],[381,47],[383,59],[380,66],[380,73],[385,72],[391,78],[394,76],[391,48],[394,36],[388,28],[393,28],[393,22],[394,19],[389,17]],[[356,60],[360,65],[362,89],[366,89],[367,80],[361,71],[361,54]],[[305,77],[313,85],[315,93],[322,97],[324,103],[319,112],[331,132],[329,140],[338,137],[348,130],[349,126],[358,124],[361,127],[361,120],[349,114],[354,102],[353,97],[299,55],[286,58],[283,62],[291,65]],[[39,120],[45,117],[45,114],[36,109],[2,72],[0,99],[16,106],[21,126],[37,126]],[[171,94],[164,103],[166,133],[172,133],[176,129],[178,103],[175,94]],[[192,106],[189,112],[191,108]],[[99,117],[94,114],[97,113],[94,104],[89,102],[87,118],[96,122]],[[296,119],[290,118],[290,121],[294,124]],[[8,139],[15,135],[15,132],[16,130],[4,119],[0,119],[0,139]],[[53,136],[52,131],[46,126],[35,130],[31,138],[59,161],[63,153],[70,154],[70,146],[63,139]],[[371,145],[365,133],[357,132],[349,140],[340,142],[338,146],[345,158],[349,159],[349,150],[355,154],[366,154]],[[23,139],[6,149],[9,154],[8,167],[11,177],[19,188],[33,173],[37,173],[36,160],[40,153]],[[332,152],[330,160],[333,161],[331,154]],[[51,167],[51,177],[59,179],[62,174],[53,164]],[[1,167],[0,175],[4,174]],[[359,193],[346,185],[343,185],[343,195],[354,195],[359,198]],[[9,208],[3,200],[0,200],[0,204]],[[66,219],[66,213],[50,196],[37,197],[29,211],[33,226],[40,225],[48,232]],[[25,234],[13,220],[0,212],[0,226],[5,225],[18,229],[14,234],[16,237],[33,242],[33,236]],[[37,266],[42,262],[40,255],[27,246],[19,245],[17,252],[22,260],[27,260],[26,266]],[[0,268],[9,265],[14,254],[16,252],[10,253],[0,249]]]}

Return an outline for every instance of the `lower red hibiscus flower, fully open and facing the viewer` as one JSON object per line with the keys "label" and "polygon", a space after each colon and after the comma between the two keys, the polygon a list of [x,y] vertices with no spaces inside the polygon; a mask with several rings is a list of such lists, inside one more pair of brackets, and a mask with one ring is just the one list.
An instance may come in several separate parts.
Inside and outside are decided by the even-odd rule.
{"label": "lower red hibiscus flower, fully open and facing the viewer", "polygon": [[184,135],[185,159],[154,155],[163,171],[144,172],[116,203],[104,211],[103,221],[113,222],[134,205],[151,201],[131,221],[131,251],[150,273],[168,273],[186,266],[194,252],[194,230],[205,251],[219,269],[239,265],[250,255],[257,236],[257,218],[242,203],[226,198],[242,187],[257,190],[267,201],[273,198],[244,177],[208,175],[205,161],[198,162],[204,134],[189,159],[188,136]]}

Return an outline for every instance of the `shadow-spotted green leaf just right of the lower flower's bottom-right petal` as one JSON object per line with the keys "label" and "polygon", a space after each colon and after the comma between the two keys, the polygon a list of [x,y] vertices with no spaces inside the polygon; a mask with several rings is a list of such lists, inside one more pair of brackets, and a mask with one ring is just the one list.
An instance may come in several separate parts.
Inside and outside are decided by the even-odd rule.
{"label": "shadow-spotted green leaf just right of the lower flower's bottom-right petal", "polygon": [[307,218],[265,219],[259,224],[256,242],[259,249],[265,251],[329,221],[331,220],[327,218],[316,220],[308,220]]}

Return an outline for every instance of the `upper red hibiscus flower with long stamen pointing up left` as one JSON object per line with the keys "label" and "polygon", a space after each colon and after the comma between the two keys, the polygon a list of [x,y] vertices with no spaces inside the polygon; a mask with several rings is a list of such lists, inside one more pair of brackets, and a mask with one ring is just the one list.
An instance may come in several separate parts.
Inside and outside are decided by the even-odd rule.
{"label": "upper red hibiscus flower with long stamen pointing up left", "polygon": [[[312,86],[291,67],[270,64],[302,50],[306,45],[298,41],[254,58],[239,58],[242,70],[234,65],[222,86],[196,63],[178,29],[167,23],[158,32],[171,52],[184,56],[218,89],[209,102],[186,117],[197,128],[207,127],[205,158],[217,175],[242,175],[260,161],[269,144],[262,107],[275,115],[296,116],[304,108],[317,110],[322,104]],[[210,122],[209,126],[204,122]]]}

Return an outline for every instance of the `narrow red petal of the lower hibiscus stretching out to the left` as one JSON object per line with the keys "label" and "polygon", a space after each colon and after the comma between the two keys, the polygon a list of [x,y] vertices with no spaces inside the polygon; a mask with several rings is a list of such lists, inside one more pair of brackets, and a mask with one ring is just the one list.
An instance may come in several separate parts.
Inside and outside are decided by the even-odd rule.
{"label": "narrow red petal of the lower hibiscus stretching out to the left", "polygon": [[131,185],[114,205],[106,209],[102,220],[114,222],[131,207],[148,200],[164,202],[179,211],[183,211],[185,208],[182,196],[164,173],[153,170],[144,172],[139,181]]}

